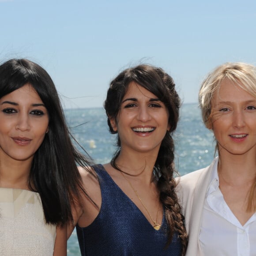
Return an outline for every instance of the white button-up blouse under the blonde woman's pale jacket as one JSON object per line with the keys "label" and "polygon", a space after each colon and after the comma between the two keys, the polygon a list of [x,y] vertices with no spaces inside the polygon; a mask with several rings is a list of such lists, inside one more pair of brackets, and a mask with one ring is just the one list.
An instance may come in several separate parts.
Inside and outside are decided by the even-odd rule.
{"label": "white button-up blouse under the blonde woman's pale jacket", "polygon": [[256,256],[256,213],[244,226],[226,204],[219,189],[217,163],[203,206],[199,234],[206,256]]}

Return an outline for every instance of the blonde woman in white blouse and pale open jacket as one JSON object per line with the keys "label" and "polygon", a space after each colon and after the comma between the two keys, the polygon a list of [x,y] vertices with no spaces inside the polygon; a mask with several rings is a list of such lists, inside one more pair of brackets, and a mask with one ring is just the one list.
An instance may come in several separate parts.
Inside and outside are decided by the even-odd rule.
{"label": "blonde woman in white blouse and pale open jacket", "polygon": [[256,255],[256,68],[217,67],[199,94],[216,140],[210,166],[181,177],[188,256]]}

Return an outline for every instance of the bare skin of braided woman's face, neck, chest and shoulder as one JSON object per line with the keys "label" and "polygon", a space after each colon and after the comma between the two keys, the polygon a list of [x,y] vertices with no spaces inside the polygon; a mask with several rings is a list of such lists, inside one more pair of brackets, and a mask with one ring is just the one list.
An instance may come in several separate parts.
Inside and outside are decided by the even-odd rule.
{"label": "bare skin of braided woman's face, neck, chest and shoulder", "polygon": [[[162,139],[169,130],[168,119],[169,112],[164,103],[156,95],[136,83],[129,85],[128,91],[122,99],[117,119],[110,119],[121,142],[120,154],[116,163],[125,172],[136,175],[127,175],[127,179],[136,189],[147,210],[153,216],[152,218],[156,219],[158,215],[158,224],[162,223],[163,211],[159,203],[158,189],[155,182],[152,182],[152,170]],[[104,167],[114,182],[136,204],[148,222],[153,225],[151,218],[128,181],[110,163],[105,164]],[[81,172],[81,175],[91,198],[98,206],[101,206],[102,197],[98,180],[85,172]],[[83,210],[77,211],[73,215],[74,222],[77,222],[79,226],[88,226],[94,221],[99,210],[86,198],[83,203]],[[68,236],[72,228],[69,228]]]}

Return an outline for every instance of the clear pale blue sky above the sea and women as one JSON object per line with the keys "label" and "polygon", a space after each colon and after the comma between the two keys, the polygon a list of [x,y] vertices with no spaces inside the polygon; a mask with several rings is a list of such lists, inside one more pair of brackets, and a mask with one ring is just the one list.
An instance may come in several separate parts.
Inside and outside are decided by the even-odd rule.
{"label": "clear pale blue sky above the sea and women", "polygon": [[255,0],[0,0],[0,62],[40,64],[64,109],[102,107],[109,82],[142,63],[196,103],[216,66],[256,64],[255,32]]}

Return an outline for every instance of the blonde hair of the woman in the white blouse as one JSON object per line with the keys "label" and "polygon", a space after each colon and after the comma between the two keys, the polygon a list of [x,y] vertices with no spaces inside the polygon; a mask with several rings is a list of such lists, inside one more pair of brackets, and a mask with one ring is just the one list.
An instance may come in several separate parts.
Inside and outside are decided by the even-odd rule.
{"label": "blonde hair of the woman in the white blouse", "polygon": [[[203,122],[209,129],[212,128],[211,116],[213,114],[211,100],[214,93],[218,92],[220,85],[225,86],[225,83],[222,83],[225,80],[234,83],[256,98],[256,66],[242,62],[228,62],[218,66],[207,75],[199,92],[199,105]],[[218,151],[217,144],[216,151]],[[247,209],[256,211],[256,179],[249,191]]]}

